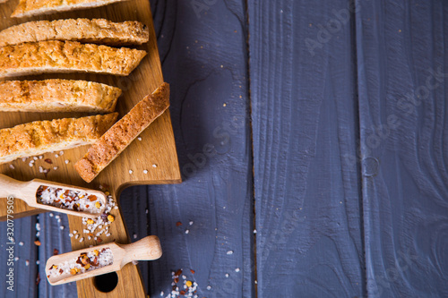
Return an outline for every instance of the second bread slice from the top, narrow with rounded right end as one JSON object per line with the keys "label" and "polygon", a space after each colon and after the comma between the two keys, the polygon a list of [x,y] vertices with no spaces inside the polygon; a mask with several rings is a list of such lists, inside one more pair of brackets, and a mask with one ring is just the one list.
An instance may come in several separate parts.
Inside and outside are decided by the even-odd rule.
{"label": "second bread slice from the top, narrow with rounded right end", "polygon": [[148,42],[149,38],[148,27],[139,21],[113,22],[104,19],[29,21],[2,30],[0,47],[46,40],[74,40],[113,46],[141,45]]}

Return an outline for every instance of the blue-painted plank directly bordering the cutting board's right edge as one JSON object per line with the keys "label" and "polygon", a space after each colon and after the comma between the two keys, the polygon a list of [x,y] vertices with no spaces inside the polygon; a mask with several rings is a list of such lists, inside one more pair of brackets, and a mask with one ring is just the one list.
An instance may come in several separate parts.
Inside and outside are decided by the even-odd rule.
{"label": "blue-painted plank directly bordering the cutting board's right edge", "polygon": [[[244,2],[217,1],[199,18],[190,1],[151,1],[151,7],[163,73],[172,87],[185,181],[122,194],[129,233],[137,239],[159,235],[164,251],[160,260],[140,262],[142,277],[151,297],[170,293],[171,271],[178,268],[199,285],[199,297],[254,297]],[[214,149],[204,158],[206,145]]]}

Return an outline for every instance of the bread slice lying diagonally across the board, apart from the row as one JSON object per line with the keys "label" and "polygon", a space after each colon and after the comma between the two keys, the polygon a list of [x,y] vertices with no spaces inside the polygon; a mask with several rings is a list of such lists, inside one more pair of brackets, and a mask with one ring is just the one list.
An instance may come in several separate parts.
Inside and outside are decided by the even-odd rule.
{"label": "bread slice lying diagonally across the board, apart from the row", "polygon": [[163,83],[115,123],[74,165],[82,179],[90,183],[159,115],[162,115],[168,106],[169,85]]}

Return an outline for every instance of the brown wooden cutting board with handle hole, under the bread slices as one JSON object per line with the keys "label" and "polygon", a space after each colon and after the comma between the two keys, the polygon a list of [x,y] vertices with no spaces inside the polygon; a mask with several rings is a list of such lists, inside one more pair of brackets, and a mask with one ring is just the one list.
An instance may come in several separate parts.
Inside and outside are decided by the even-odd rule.
{"label": "brown wooden cutting board with handle hole, under the bread slices", "polygon": [[[142,21],[150,29],[149,43],[137,47],[146,50],[148,55],[142,60],[142,64],[140,64],[129,77],[122,78],[110,75],[77,73],[29,76],[22,77],[21,80],[73,79],[98,81],[119,87],[124,91],[123,95],[118,99],[116,107],[116,110],[120,113],[120,117],[125,115],[125,113],[127,113],[137,102],[159,87],[163,82],[157,39],[154,32],[151,8],[148,0],[132,0],[90,10],[76,11],[72,13],[56,13],[44,17],[24,19],[10,18],[9,16],[13,13],[13,9],[17,3],[18,0],[10,0],[6,4],[0,4],[0,30],[4,30],[9,26],[25,21],[67,18],[105,18],[110,21]],[[0,112],[0,128],[12,127],[20,123],[28,123],[36,120],[51,120],[54,118],[79,117],[83,115],[86,114]],[[65,154],[59,158],[55,157],[56,152],[53,154],[45,154],[44,158],[37,160],[33,167],[29,166],[28,161],[23,162],[22,159],[16,160],[10,164],[1,165],[0,173],[22,181],[41,178],[93,189],[99,189],[99,184],[105,183],[109,185],[109,192],[111,192],[116,200],[118,200],[120,192],[130,185],[180,183],[181,175],[177,161],[177,152],[169,111],[161,115],[146,131],[142,132],[141,137],[142,140],[134,140],[121,156],[116,158],[116,160],[101,172],[101,174],[99,174],[99,176],[90,184],[84,183],[73,167],[75,162],[82,158],[87,151],[88,147],[85,146],[78,149],[66,150]],[[46,158],[51,159],[53,164],[49,165],[45,162],[44,160]],[[69,161],[69,163],[66,164],[65,160]],[[44,174],[39,173],[39,166],[51,168],[47,177]],[[53,169],[54,166],[58,166],[56,171]],[[132,174],[130,174],[130,170],[132,171]],[[144,174],[144,170],[147,170],[148,173]],[[1,220],[4,220],[6,217],[5,206],[5,198],[0,198]],[[102,236],[102,243],[108,243],[114,240],[118,243],[128,243],[130,241],[119,210],[120,209],[114,209],[112,211],[116,220],[110,226],[111,236]],[[14,201],[14,218],[30,216],[40,212],[42,212],[40,209],[28,208],[21,200]],[[69,223],[71,231],[83,230],[80,217],[69,217]],[[90,244],[96,245],[98,243],[93,240],[88,241],[87,239],[83,243],[80,243],[78,240],[75,240],[74,237],[72,238],[73,250],[88,247]],[[77,282],[78,296],[85,298],[146,297],[142,279],[136,266],[128,264],[121,271],[117,272],[117,275],[118,284],[110,293],[99,292],[95,285],[93,285],[93,278]]]}

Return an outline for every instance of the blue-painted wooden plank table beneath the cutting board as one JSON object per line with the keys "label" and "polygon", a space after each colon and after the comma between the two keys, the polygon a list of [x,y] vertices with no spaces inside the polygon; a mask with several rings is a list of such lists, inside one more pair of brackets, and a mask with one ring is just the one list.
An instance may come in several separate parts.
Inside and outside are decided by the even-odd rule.
{"label": "blue-painted wooden plank table beneath the cutting board", "polygon": [[[151,296],[182,268],[199,297],[448,297],[448,3],[151,9],[185,180],[120,199],[132,238],[162,243]],[[11,293],[0,224],[1,297],[76,297],[44,277],[60,226],[14,221]]]}

